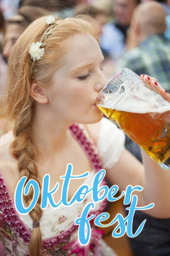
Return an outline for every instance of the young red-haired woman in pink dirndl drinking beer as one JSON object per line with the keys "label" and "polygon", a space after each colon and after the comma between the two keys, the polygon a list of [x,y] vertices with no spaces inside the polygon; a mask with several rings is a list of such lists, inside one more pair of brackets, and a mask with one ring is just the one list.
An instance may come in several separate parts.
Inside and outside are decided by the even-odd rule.
{"label": "young red-haired woman in pink dirndl drinking beer", "polygon": [[[42,211],[40,194],[29,214],[17,213],[14,192],[21,177],[26,176],[27,182],[34,179],[41,187],[48,173],[50,190],[59,182],[53,195],[57,203],[60,176],[68,163],[73,164],[73,175],[90,172],[87,178],[71,180],[68,201],[82,183],[91,186],[95,172],[105,168],[108,180],[120,190],[130,184],[144,187],[138,193],[139,205],[155,204],[148,214],[170,217],[170,172],[144,152],[142,166],[125,150],[123,132],[102,118],[94,104],[107,83],[102,61],[96,29],[88,17],[41,17],[23,32],[11,52],[3,116],[14,121],[14,129],[0,139],[0,239],[8,256],[115,255],[94,227],[88,249],[77,242],[74,220],[91,201],[90,195],[81,204]],[[170,99],[153,79],[142,77]],[[33,194],[30,189],[25,205]],[[105,204],[96,204],[94,213],[104,212]]]}

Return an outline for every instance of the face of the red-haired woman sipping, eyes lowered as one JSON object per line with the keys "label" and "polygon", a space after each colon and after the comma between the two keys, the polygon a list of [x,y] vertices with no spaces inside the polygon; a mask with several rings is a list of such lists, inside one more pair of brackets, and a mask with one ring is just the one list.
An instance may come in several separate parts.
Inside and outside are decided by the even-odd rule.
{"label": "face of the red-haired woman sipping, eyes lowered", "polygon": [[50,110],[71,123],[99,122],[103,115],[94,102],[108,82],[101,70],[104,58],[99,44],[89,34],[74,35],[68,44],[64,64],[45,92]]}

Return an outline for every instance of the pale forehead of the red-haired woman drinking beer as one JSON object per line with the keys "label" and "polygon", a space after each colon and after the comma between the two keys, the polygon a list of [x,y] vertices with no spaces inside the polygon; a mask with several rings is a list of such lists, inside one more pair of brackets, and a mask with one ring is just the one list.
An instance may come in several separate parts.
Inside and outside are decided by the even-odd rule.
{"label": "pale forehead of the red-haired woman drinking beer", "polygon": [[65,64],[69,67],[101,61],[102,51],[98,42],[91,35],[77,34],[69,38],[70,44],[65,58]]}

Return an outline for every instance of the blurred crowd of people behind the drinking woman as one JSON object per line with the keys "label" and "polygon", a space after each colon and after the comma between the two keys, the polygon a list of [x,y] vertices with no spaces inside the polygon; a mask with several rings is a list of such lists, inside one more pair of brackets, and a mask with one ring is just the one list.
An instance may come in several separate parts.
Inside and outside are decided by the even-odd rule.
{"label": "blurred crowd of people behind the drinking woman", "polygon": [[[111,79],[128,67],[153,76],[170,93],[170,0],[0,0],[0,97],[12,48],[37,17],[90,15],[96,20],[105,57],[103,72]],[[126,148],[142,161],[129,138]],[[136,227],[148,219],[141,235],[132,239],[134,255],[170,255],[170,220],[136,213]],[[135,227],[135,226],[134,226]],[[136,231],[136,230],[134,230]]]}

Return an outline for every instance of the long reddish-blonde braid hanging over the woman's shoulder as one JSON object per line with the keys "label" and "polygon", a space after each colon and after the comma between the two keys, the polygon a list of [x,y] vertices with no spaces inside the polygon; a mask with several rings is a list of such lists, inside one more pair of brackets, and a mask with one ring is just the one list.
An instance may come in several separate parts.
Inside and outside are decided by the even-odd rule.
{"label": "long reddish-blonde braid hanging over the woman's shoulder", "polygon": [[[31,138],[31,107],[23,111],[22,116],[20,116],[16,120],[13,133],[15,140],[10,146],[10,152],[12,157],[17,159],[18,161],[18,170],[20,172],[20,177],[26,176],[26,183],[31,179],[34,179],[38,182],[38,170],[34,161],[36,150],[33,144],[33,139]],[[26,201],[27,205],[31,203],[33,196],[34,189],[31,186],[28,195],[24,195],[24,200]],[[40,207],[40,204],[41,192],[36,206],[34,207],[34,209],[31,210],[31,212],[29,212],[32,220],[36,222],[40,221],[40,218],[42,216],[42,209]],[[40,227],[36,227],[33,229],[29,242],[30,256],[40,256],[41,240],[42,238]]]}

